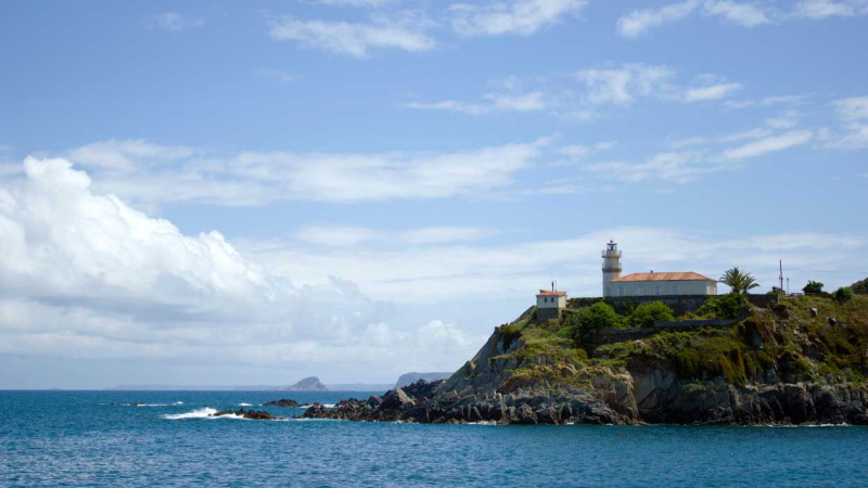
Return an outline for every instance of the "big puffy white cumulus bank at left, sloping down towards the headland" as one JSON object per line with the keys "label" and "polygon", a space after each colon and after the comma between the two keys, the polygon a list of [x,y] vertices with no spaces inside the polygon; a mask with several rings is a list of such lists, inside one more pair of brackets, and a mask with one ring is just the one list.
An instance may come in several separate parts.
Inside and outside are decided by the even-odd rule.
{"label": "big puffy white cumulus bank at left, sloping down towards the headland", "polygon": [[186,235],[94,193],[68,160],[28,157],[24,171],[0,188],[0,355],[391,372],[420,357],[457,368],[484,339],[396,326],[394,305],[345,279],[297,286],[216,231]]}

